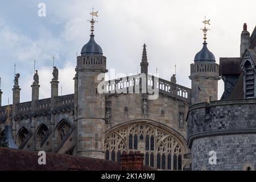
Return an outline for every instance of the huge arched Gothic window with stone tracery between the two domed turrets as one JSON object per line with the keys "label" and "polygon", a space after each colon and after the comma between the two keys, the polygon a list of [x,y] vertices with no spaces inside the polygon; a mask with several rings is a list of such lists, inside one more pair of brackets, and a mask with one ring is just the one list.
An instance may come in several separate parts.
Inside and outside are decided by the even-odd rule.
{"label": "huge arched Gothic window with stone tracery between the two domed turrets", "polygon": [[184,148],[173,133],[148,123],[120,126],[105,137],[105,159],[118,161],[123,151],[139,150],[144,165],[159,169],[182,170]]}

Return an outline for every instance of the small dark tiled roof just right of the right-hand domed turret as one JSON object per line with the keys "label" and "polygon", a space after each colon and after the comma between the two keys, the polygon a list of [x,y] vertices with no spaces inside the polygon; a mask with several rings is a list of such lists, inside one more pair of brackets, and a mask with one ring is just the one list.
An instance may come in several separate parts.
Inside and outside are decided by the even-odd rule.
{"label": "small dark tiled roof just right of the right-hand domed turret", "polygon": [[239,75],[241,57],[220,57],[220,75]]}

